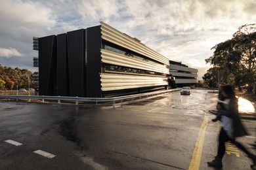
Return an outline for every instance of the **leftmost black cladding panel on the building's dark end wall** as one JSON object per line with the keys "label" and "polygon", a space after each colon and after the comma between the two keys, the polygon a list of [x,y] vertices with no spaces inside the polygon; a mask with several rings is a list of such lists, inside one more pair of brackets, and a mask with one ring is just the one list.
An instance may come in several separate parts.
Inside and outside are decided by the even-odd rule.
{"label": "leftmost black cladding panel on the building's dark end wall", "polygon": [[56,36],[39,38],[39,95],[54,94]]}

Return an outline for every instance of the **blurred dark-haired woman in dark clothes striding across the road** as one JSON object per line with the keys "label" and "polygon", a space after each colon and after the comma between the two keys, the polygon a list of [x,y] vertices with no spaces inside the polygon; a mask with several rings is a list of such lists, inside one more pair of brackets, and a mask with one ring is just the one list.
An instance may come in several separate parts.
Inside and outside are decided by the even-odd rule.
{"label": "blurred dark-haired woman in dark clothes striding across the road", "polygon": [[222,125],[219,133],[218,153],[214,160],[208,161],[207,163],[210,167],[223,167],[222,159],[225,154],[225,143],[230,141],[247,154],[253,161],[251,168],[256,169],[256,156],[236,141],[236,137],[245,136],[247,132],[238,115],[238,99],[236,99],[232,86],[222,86],[221,95],[223,96],[223,100],[219,101],[219,115],[212,120],[213,122],[220,120]]}

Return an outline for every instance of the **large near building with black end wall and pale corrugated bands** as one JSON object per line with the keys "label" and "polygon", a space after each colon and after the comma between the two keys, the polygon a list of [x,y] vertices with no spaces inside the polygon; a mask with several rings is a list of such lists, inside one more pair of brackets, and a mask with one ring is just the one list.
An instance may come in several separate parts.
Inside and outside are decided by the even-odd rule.
{"label": "large near building with black end wall and pale corrugated bands", "polygon": [[169,59],[104,22],[41,37],[35,47],[39,95],[112,97],[167,89]]}

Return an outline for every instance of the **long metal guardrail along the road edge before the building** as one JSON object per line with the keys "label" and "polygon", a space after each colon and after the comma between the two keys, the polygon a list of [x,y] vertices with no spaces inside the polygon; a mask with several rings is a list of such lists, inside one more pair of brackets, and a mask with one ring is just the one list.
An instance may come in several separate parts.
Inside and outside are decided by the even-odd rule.
{"label": "long metal guardrail along the road edge before the building", "polygon": [[158,92],[139,93],[134,95],[125,95],[120,97],[106,97],[106,98],[68,97],[68,96],[49,96],[49,95],[0,95],[0,99],[16,99],[16,101],[18,101],[19,99],[23,99],[23,100],[28,99],[29,102],[31,101],[31,99],[37,99],[37,100],[41,100],[43,103],[45,103],[45,100],[58,101],[58,103],[61,103],[61,101],[73,101],[75,102],[75,105],[78,105],[79,102],[95,103],[96,105],[98,105],[99,103],[115,105],[116,102],[118,101],[119,103],[122,104],[125,101],[129,101],[133,99],[141,99],[143,97],[150,97],[154,95],[160,95],[163,93],[175,92],[179,90],[181,89],[175,88],[171,90],[163,90]]}

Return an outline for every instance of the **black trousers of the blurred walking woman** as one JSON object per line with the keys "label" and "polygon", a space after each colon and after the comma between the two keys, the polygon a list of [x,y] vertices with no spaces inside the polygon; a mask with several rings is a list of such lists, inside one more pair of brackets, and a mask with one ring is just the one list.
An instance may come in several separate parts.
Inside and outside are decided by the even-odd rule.
{"label": "black trousers of the blurred walking woman", "polygon": [[221,131],[219,133],[219,147],[218,147],[218,154],[217,157],[218,158],[223,158],[226,148],[225,148],[225,143],[227,141],[230,141],[231,143],[233,143],[234,145],[236,145],[238,148],[240,148],[240,150],[244,151],[245,154],[247,154],[247,156],[249,158],[252,157],[253,154],[251,154],[251,152],[249,152],[241,143],[238,143],[237,141],[235,141],[234,139],[230,139],[228,137],[228,135],[226,134],[226,131],[224,131],[223,128],[221,128]]}

